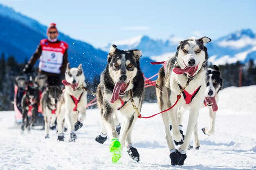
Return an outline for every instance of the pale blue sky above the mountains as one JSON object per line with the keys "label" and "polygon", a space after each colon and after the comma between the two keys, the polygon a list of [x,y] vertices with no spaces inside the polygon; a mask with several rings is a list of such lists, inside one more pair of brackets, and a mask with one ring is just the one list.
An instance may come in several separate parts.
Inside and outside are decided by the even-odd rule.
{"label": "pale blue sky above the mountains", "polygon": [[137,35],[166,40],[243,28],[256,32],[255,0],[0,0],[1,4],[96,47]]}

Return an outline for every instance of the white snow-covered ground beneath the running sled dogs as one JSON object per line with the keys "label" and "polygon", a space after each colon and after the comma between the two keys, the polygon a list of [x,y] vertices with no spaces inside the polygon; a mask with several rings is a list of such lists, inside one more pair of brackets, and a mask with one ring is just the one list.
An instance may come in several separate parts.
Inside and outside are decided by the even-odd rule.
{"label": "white snow-covered ground beneath the running sled dogs", "polygon": [[[14,126],[14,111],[0,112],[0,170],[255,170],[256,169],[256,86],[229,87],[220,91],[216,130],[206,136],[199,130],[200,150],[189,150],[184,166],[171,166],[161,115],[139,119],[133,130],[133,144],[140,162],[130,159],[125,150],[118,163],[111,163],[109,141],[98,144],[98,109],[90,109],[75,143],[57,142],[44,131],[20,134]],[[156,103],[145,103],[142,115],[159,112]],[[198,127],[208,127],[208,110],[200,110]],[[188,114],[184,116],[184,130]],[[66,139],[68,135],[66,134]]]}

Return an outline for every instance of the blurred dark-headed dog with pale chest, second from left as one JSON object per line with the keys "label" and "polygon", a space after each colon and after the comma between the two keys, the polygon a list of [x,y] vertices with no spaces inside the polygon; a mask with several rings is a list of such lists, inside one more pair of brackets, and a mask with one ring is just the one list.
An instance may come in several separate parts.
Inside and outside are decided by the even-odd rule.
{"label": "blurred dark-headed dog with pale chest, second from left", "polygon": [[61,86],[49,86],[42,93],[40,106],[45,119],[45,138],[49,138],[49,128],[55,125],[57,102],[61,98]]}

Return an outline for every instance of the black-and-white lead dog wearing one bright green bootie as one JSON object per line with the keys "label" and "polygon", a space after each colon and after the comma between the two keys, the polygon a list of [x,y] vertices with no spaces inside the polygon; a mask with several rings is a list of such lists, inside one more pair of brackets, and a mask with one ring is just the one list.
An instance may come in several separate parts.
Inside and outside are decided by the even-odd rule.
{"label": "black-and-white lead dog wearing one bright green bootie", "polygon": [[[119,50],[116,45],[110,46],[108,64],[101,73],[100,84],[97,88],[98,105],[101,111],[101,133],[107,134],[111,140],[110,152],[112,162],[117,162],[121,157],[124,146],[127,147],[128,155],[139,161],[139,153],[132,147],[132,128],[137,120],[137,113],[132,107],[131,98],[138,110],[144,95],[144,78],[141,73],[139,58],[140,50]],[[118,110],[124,116],[120,131],[117,134],[113,114]]]}

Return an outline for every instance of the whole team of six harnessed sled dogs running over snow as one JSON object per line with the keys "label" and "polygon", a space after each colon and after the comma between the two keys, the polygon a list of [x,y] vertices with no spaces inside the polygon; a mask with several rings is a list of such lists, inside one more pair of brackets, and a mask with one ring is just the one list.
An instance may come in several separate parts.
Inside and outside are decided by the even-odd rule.
{"label": "whole team of six harnessed sled dogs running over snow", "polygon": [[[175,56],[168,58],[158,72],[156,96],[159,108],[164,112],[161,115],[172,165],[184,164],[187,149],[199,149],[197,119],[200,108],[204,106],[209,108],[210,121],[209,127],[203,128],[202,131],[206,135],[214,133],[218,92],[222,88],[222,78],[218,66],[208,68],[208,53],[205,46],[208,42],[211,42],[211,39],[207,37],[180,41]],[[128,155],[139,162],[139,152],[132,146],[132,129],[138,119],[137,111],[140,113],[144,97],[141,56],[141,50],[125,51],[117,49],[114,44],[111,45],[107,65],[101,73],[97,88],[102,124],[101,133],[96,137],[96,141],[103,144],[107,138],[110,139],[113,163],[120,159],[124,147]],[[69,141],[74,142],[75,131],[83,126],[87,107],[88,89],[82,64],[77,68],[70,68],[70,64],[67,64],[63,85],[65,89],[61,86],[48,86],[40,98],[45,121],[45,138],[49,138],[49,128],[56,120],[58,141],[64,141],[64,129],[67,127],[70,134]],[[33,113],[38,108],[31,110],[30,121],[27,112],[28,107],[38,100],[36,98],[38,96],[38,89],[28,86],[21,102],[22,130],[25,126],[29,128],[33,122]],[[185,110],[189,110],[189,121],[184,134],[182,118]],[[117,114],[123,116],[121,126]],[[189,146],[192,133],[193,146]],[[180,146],[175,148],[175,145]]]}

